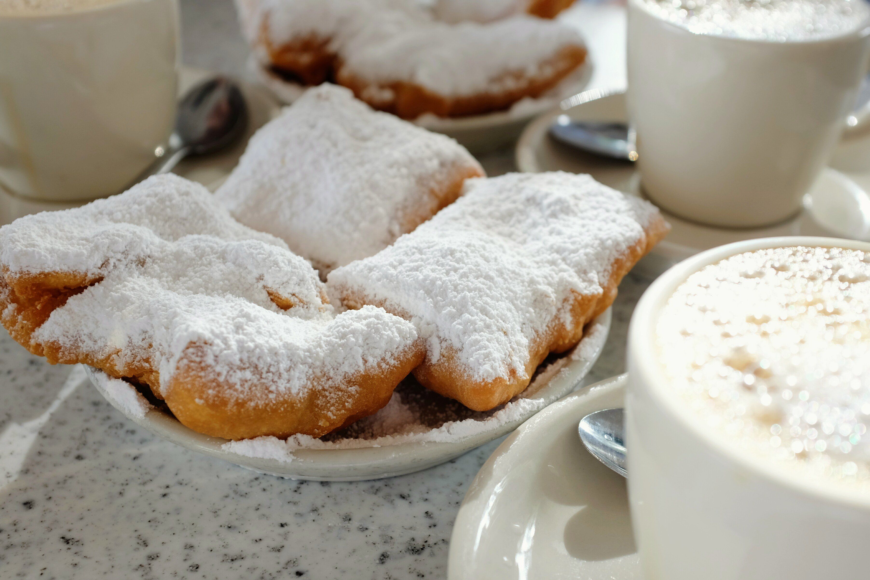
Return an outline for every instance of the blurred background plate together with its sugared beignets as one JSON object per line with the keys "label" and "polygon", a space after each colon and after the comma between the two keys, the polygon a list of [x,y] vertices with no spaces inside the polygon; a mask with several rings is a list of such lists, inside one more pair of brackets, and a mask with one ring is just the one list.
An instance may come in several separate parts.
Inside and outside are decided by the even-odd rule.
{"label": "blurred background plate together with its sugared beignets", "polygon": [[570,2],[237,4],[251,69],[278,98],[290,103],[306,86],[338,83],[373,108],[457,137],[476,152],[505,142],[508,133],[516,137],[519,125],[582,90],[590,77],[579,32],[540,17]]}

